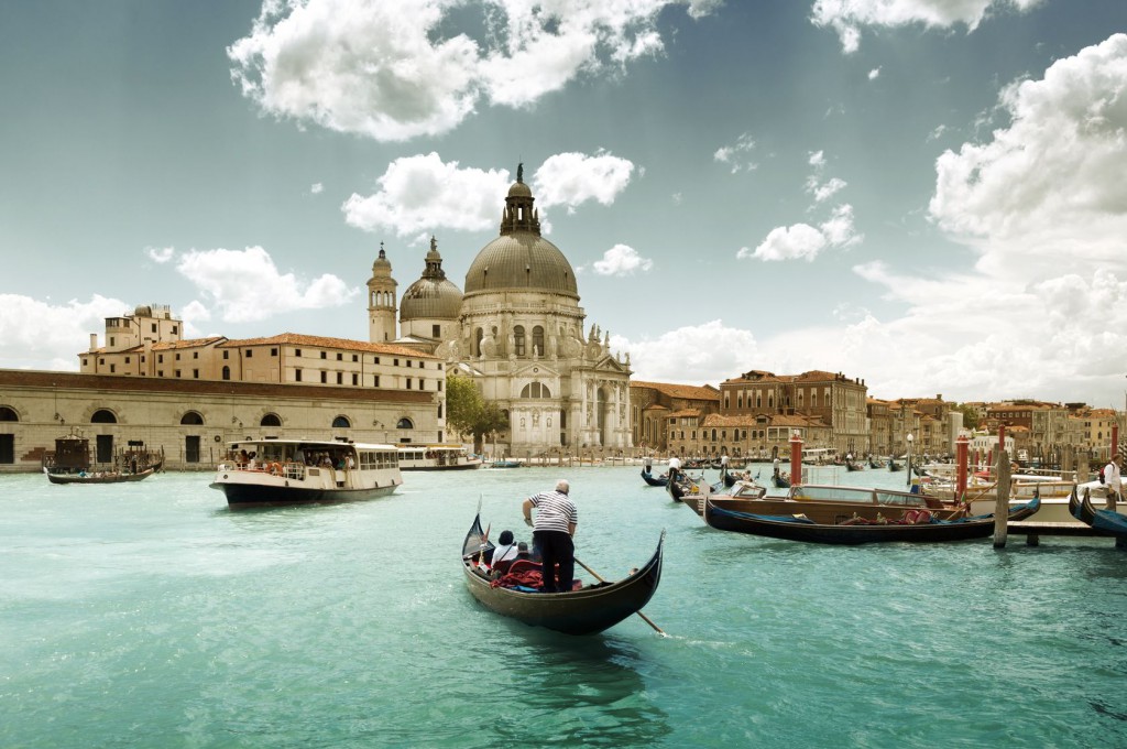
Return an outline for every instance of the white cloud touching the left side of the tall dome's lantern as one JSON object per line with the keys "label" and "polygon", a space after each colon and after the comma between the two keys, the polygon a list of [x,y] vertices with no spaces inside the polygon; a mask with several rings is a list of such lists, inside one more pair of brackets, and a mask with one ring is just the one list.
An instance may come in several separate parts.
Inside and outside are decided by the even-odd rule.
{"label": "white cloud touching the left side of the tall dome's lantern", "polygon": [[354,193],[341,210],[354,227],[400,237],[438,228],[483,231],[500,220],[512,182],[505,169],[461,168],[434,152],[410,156],[388,165],[376,180],[379,192],[366,197]]}

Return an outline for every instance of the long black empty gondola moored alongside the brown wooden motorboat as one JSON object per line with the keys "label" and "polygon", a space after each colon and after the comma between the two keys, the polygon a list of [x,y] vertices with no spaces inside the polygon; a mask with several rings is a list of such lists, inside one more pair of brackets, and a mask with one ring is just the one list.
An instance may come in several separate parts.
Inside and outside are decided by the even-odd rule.
{"label": "long black empty gondola moored alongside the brown wooden motorboat", "polygon": [[[1010,508],[1009,521],[1024,520],[1037,512],[1040,497]],[[909,514],[911,513],[911,514]],[[907,519],[919,516],[919,510],[905,513]],[[704,522],[719,530],[752,536],[765,536],[808,544],[873,544],[880,541],[938,543],[986,538],[994,531],[994,516],[975,516],[958,520],[916,522],[846,521],[840,525],[817,523],[804,516],[763,516],[726,510],[704,502]]]}

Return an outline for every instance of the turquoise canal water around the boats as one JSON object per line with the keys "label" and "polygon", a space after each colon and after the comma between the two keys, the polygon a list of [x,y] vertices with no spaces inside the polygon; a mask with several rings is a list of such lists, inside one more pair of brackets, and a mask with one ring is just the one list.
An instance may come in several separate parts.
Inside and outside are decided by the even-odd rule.
{"label": "turquoise canal water around the boats", "polygon": [[[241,513],[206,474],[2,477],[0,747],[1127,746],[1110,539],[758,539],[639,470],[410,473],[382,500]],[[525,538],[521,500],[558,477],[605,578],[668,531],[646,613],[669,636],[558,635],[464,590],[478,503]]]}

